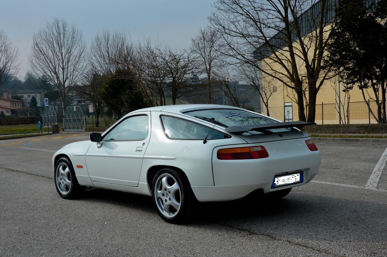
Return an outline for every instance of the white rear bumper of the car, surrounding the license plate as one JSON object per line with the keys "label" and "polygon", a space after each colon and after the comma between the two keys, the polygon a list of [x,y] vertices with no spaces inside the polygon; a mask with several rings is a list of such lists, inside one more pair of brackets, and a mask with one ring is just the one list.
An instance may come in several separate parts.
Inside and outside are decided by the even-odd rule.
{"label": "white rear bumper of the car, surrounding the license plate", "polygon": [[[263,160],[263,159],[262,159]],[[310,151],[302,158],[286,157],[281,160],[265,160],[256,163],[255,168],[239,168],[222,170],[222,174],[214,172],[215,186],[192,186],[192,191],[200,202],[231,201],[240,199],[251,192],[261,189],[264,193],[278,191],[310,182],[319,172],[321,163],[320,151]],[[303,182],[288,186],[271,188],[274,176],[303,171]]]}

